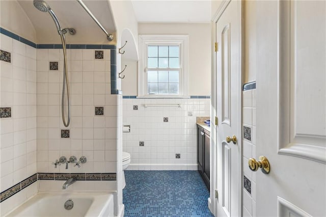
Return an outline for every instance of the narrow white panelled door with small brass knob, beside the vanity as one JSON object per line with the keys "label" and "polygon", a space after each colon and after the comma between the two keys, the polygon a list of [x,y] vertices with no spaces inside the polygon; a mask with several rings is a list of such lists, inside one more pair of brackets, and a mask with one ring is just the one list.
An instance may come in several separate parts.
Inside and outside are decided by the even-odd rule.
{"label": "narrow white panelled door with small brass knob, beside the vanity", "polygon": [[[216,216],[239,216],[240,167],[239,153],[241,114],[241,61],[240,61],[240,5],[227,2],[226,9],[215,22],[216,92],[215,110],[218,125],[215,127],[217,177]],[[234,135],[237,141],[227,141]],[[234,138],[234,139],[235,139]]]}

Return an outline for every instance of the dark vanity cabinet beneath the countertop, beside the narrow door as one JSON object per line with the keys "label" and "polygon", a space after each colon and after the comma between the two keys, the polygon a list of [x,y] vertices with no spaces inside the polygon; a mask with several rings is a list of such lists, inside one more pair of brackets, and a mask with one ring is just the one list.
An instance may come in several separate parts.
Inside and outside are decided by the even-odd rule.
{"label": "dark vanity cabinet beneath the countertop, beside the narrow door", "polygon": [[209,191],[210,132],[200,125],[197,125],[197,150],[198,172]]}

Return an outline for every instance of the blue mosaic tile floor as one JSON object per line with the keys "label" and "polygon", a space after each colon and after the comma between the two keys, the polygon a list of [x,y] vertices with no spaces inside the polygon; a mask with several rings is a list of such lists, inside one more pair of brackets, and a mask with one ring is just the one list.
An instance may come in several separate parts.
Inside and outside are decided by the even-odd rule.
{"label": "blue mosaic tile floor", "polygon": [[125,171],[125,217],[213,216],[197,171]]}

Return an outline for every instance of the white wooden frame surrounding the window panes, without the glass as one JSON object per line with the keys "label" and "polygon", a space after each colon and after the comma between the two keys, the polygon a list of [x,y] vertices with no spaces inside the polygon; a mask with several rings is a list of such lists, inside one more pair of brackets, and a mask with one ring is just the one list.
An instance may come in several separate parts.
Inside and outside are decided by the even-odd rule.
{"label": "white wooden frame surrounding the window panes, without the glass", "polygon": [[[179,94],[148,94],[147,47],[149,45],[179,45]],[[188,94],[188,35],[140,35],[137,98],[189,98]],[[167,69],[168,70],[168,69]]]}

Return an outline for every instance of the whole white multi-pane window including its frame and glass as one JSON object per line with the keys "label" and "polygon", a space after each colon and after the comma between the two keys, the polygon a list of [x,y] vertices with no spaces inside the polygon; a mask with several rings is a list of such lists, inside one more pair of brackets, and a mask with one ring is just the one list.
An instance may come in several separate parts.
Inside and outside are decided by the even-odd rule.
{"label": "whole white multi-pane window including its frame and glass", "polygon": [[188,37],[140,36],[139,97],[187,94]]}

